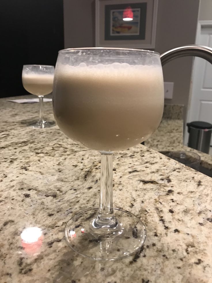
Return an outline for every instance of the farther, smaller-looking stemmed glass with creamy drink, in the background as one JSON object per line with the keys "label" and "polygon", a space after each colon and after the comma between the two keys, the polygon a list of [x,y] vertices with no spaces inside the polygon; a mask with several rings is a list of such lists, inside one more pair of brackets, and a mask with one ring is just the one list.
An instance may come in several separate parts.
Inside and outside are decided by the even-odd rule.
{"label": "farther, smaller-looking stemmed glass with creamy drink, in the background", "polygon": [[46,121],[43,115],[43,96],[52,92],[54,80],[54,66],[24,65],[22,70],[22,84],[24,89],[39,97],[39,120],[33,121],[33,128],[49,128],[55,121]]}

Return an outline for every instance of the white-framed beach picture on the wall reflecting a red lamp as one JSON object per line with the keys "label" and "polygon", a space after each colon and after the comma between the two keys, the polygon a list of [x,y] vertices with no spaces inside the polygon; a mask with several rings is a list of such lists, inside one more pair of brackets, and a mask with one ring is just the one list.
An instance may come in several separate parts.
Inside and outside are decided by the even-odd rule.
{"label": "white-framed beach picture on the wall reflecting a red lamp", "polygon": [[96,0],[96,47],[154,49],[158,0]]}

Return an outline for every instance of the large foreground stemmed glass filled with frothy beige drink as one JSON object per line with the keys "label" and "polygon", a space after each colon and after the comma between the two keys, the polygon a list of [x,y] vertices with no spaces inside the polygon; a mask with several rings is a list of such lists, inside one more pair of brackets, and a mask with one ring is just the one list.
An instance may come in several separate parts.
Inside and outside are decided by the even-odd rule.
{"label": "large foreground stemmed glass filled with frothy beige drink", "polygon": [[158,53],[124,48],[59,51],[54,117],[68,137],[101,153],[99,208],[77,213],[65,227],[65,239],[78,253],[114,260],[143,245],[143,222],[113,208],[113,152],[148,138],[158,128],[163,105]]}

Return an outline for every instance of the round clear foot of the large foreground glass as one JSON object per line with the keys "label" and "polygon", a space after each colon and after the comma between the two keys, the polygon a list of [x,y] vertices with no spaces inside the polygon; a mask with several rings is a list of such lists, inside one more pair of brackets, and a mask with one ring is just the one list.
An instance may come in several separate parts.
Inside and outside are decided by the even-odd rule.
{"label": "round clear foot of the large foreground glass", "polygon": [[126,210],[113,208],[115,217],[122,223],[120,233],[94,236],[90,223],[98,208],[81,211],[66,224],[65,240],[79,254],[95,260],[115,260],[129,256],[141,248],[146,239],[143,222]]}

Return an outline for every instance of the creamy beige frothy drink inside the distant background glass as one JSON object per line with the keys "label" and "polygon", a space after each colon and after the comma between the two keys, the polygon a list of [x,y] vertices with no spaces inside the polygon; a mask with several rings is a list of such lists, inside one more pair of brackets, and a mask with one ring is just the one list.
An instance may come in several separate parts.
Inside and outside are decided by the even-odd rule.
{"label": "creamy beige frothy drink inside the distant background glass", "polygon": [[46,95],[52,92],[54,74],[23,74],[24,89],[35,95]]}

